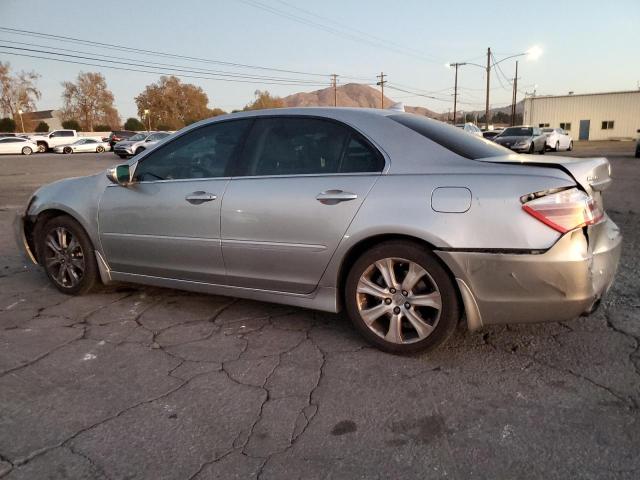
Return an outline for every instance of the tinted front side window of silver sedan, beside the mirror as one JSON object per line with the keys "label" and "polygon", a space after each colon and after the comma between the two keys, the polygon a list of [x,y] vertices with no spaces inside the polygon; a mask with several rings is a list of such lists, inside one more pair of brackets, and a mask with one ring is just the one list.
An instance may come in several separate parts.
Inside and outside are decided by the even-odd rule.
{"label": "tinted front side window of silver sedan, beside the mirror", "polygon": [[224,177],[250,120],[213,123],[159,145],[136,168],[135,180]]}

